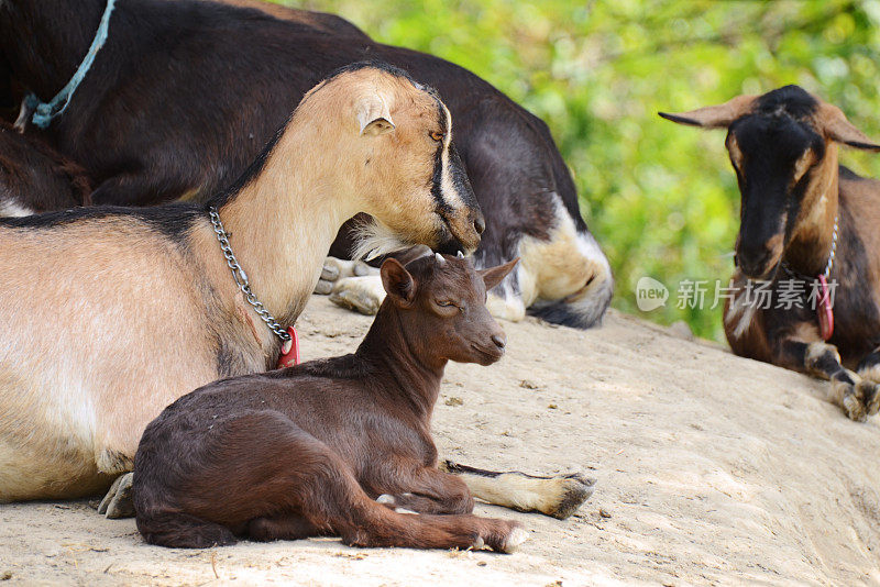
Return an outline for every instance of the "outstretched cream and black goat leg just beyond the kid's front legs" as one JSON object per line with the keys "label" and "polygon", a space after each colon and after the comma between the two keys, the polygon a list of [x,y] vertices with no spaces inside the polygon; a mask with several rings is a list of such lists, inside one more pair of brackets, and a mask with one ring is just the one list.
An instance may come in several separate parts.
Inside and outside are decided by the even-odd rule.
{"label": "outstretched cream and black goat leg just beyond the kid's front legs", "polygon": [[595,479],[580,473],[538,477],[518,470],[497,473],[446,461],[441,468],[460,477],[471,494],[517,511],[539,511],[564,520],[593,495]]}

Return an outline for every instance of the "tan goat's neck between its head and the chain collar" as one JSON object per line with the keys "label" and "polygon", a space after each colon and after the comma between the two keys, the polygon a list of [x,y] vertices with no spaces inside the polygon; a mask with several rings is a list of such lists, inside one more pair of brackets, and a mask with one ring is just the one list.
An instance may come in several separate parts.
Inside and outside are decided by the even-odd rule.
{"label": "tan goat's neck between its head and the chain collar", "polygon": [[[337,162],[322,158],[320,145],[314,130],[294,117],[267,147],[262,168],[219,206],[254,294],[283,325],[305,308],[337,232],[359,211],[356,195],[334,180],[330,167]],[[220,254],[207,214],[199,235],[207,239],[202,247]]]}

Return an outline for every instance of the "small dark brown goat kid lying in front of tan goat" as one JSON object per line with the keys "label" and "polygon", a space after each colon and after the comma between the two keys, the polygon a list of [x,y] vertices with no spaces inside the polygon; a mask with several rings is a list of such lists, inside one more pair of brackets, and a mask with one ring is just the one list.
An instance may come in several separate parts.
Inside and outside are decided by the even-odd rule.
{"label": "small dark brown goat kid lying in front of tan goat", "polygon": [[486,290],[517,261],[477,272],[439,253],[387,259],[387,297],[354,354],[216,381],[166,408],[135,456],[146,541],[340,535],[355,546],[513,551],[528,534],[471,514],[465,484],[437,468],[430,428],[449,361],[504,355]]}

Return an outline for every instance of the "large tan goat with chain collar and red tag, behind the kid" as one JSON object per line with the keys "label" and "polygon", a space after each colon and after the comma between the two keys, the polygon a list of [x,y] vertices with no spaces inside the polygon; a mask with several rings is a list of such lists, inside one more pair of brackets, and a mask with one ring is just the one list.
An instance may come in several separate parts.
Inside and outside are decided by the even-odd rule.
{"label": "large tan goat with chain collar and red tag, behind the kid", "polygon": [[[361,64],[307,93],[210,213],[94,207],[0,222],[0,501],[106,488],[168,403],[274,368],[280,324],[353,214],[407,242],[476,246],[449,124],[435,92]],[[468,230],[448,214],[470,217]],[[238,263],[252,291],[243,270],[230,275]]]}

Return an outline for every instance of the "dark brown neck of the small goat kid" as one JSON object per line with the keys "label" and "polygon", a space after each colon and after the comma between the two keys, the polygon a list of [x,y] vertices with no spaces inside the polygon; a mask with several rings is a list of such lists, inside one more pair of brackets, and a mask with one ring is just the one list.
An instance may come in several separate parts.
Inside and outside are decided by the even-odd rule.
{"label": "dark brown neck of the small goat kid", "polygon": [[403,312],[386,300],[356,355],[373,367],[377,388],[403,396],[419,417],[430,419],[448,361],[431,352],[429,333]]}

